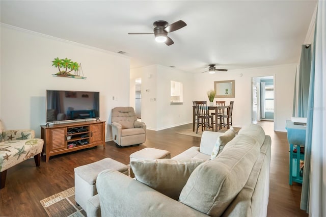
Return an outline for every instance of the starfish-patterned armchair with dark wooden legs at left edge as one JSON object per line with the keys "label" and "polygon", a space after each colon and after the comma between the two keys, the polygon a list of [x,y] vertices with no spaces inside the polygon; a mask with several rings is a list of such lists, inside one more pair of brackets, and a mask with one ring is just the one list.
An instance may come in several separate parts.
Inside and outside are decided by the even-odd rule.
{"label": "starfish-patterned armchair with dark wooden legs at left edge", "polygon": [[3,130],[0,128],[1,188],[5,187],[9,168],[33,156],[35,165],[40,166],[44,142],[42,139],[34,139],[34,137],[34,130]]}

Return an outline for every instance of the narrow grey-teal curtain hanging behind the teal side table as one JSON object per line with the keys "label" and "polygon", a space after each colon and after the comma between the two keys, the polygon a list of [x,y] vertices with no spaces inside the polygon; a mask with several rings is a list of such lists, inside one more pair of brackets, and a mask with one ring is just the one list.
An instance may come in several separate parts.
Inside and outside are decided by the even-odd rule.
{"label": "narrow grey-teal curtain hanging behind the teal side table", "polygon": [[307,117],[311,67],[311,46],[301,46],[297,117]]}

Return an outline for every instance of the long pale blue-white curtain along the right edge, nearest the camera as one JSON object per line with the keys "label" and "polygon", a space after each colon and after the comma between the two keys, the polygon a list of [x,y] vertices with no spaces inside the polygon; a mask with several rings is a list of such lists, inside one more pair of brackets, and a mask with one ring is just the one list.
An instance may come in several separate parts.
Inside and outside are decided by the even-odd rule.
{"label": "long pale blue-white curtain along the right edge, nearest the camera", "polygon": [[326,1],[318,1],[308,99],[301,209],[326,216]]}

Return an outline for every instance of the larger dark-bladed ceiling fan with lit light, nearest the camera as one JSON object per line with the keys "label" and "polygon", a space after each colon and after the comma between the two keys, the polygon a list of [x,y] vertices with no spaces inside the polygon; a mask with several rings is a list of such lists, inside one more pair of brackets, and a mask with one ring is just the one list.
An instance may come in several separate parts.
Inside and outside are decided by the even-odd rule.
{"label": "larger dark-bladed ceiling fan with lit light, nearest the camera", "polygon": [[170,46],[174,44],[172,39],[168,36],[168,33],[174,32],[186,26],[187,24],[182,20],[176,21],[169,25],[167,21],[158,20],[153,23],[154,32],[153,33],[128,33],[128,35],[148,35],[154,34],[155,40],[157,42],[164,42],[166,45]]}

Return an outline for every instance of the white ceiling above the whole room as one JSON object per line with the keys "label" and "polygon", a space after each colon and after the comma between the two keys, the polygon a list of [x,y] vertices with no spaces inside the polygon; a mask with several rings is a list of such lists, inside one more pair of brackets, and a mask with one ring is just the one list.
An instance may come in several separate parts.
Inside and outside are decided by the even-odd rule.
{"label": "white ceiling above the whole room", "polygon": [[[298,62],[316,1],[3,1],[1,22],[131,57],[202,72]],[[153,22],[187,26],[157,43]]]}

